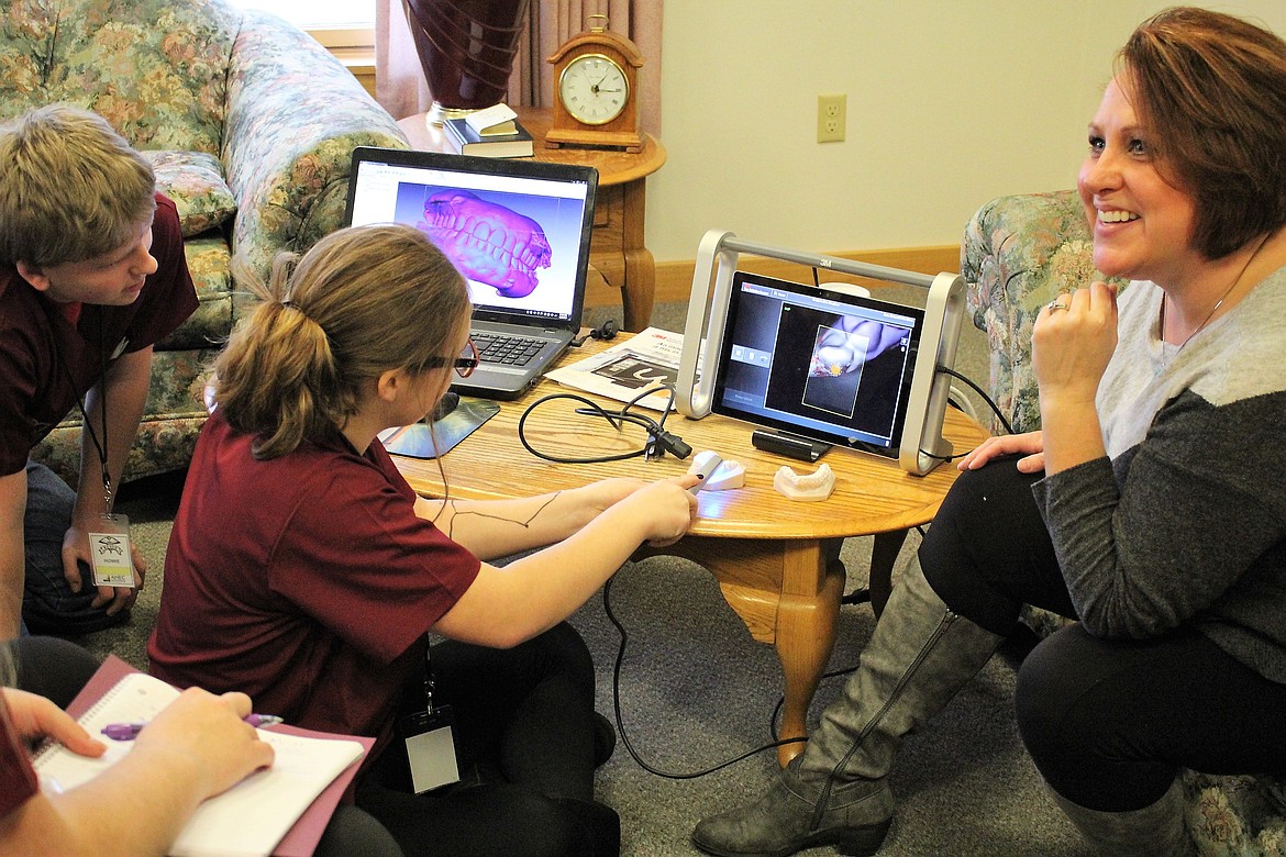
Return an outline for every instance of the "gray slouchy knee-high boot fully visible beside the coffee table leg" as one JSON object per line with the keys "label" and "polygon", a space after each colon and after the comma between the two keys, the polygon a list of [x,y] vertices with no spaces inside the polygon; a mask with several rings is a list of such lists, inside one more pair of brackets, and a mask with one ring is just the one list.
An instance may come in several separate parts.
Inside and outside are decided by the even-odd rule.
{"label": "gray slouchy knee-high boot fully visible beside the coffee table leg", "polygon": [[702,820],[693,844],[719,857],[784,857],[815,845],[876,853],[892,824],[885,775],[901,736],[936,714],[1001,640],[952,613],[912,563],[804,753],[756,803]]}

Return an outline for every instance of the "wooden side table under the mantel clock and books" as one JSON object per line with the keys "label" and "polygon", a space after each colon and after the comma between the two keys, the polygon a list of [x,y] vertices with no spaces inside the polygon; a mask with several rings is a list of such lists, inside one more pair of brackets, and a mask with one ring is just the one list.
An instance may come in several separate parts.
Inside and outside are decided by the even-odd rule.
{"label": "wooden side table under the mantel clock and books", "polygon": [[[621,296],[625,330],[642,330],[652,320],[656,293],[656,262],[643,240],[647,211],[647,177],[665,163],[665,146],[649,134],[643,135],[638,153],[611,149],[545,148],[545,134],[553,121],[548,108],[517,107],[518,121],[535,143],[536,161],[575,163],[598,170],[598,197],[594,204],[594,235],[589,248],[589,293],[593,303],[615,302]],[[428,126],[424,113],[397,122],[417,149],[450,152],[442,130]]]}

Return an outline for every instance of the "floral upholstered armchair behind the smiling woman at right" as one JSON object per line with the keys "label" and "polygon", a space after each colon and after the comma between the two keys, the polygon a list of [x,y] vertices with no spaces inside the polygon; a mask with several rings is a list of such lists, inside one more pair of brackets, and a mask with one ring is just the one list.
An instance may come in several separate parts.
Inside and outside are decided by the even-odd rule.
{"label": "floral upholstered armchair behind the smiling woman at right", "polygon": [[[990,392],[1015,432],[1040,427],[1031,374],[1031,325],[1060,292],[1105,279],[1075,191],[1002,197],[964,230],[961,274],[974,324],[990,346]],[[993,430],[1003,430],[993,425]],[[1048,633],[1067,619],[1033,610]],[[1286,776],[1184,773],[1187,824],[1206,857],[1286,857]]]}

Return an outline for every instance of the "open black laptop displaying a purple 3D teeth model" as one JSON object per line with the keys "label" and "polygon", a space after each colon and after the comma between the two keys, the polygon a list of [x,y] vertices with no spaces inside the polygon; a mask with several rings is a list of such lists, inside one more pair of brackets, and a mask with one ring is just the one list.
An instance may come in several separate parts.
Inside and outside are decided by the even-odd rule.
{"label": "open black laptop displaying a purple 3D teeth model", "polygon": [[482,358],[451,389],[517,398],[580,331],[598,171],[440,152],[352,152],[345,222],[408,224],[464,275]]}

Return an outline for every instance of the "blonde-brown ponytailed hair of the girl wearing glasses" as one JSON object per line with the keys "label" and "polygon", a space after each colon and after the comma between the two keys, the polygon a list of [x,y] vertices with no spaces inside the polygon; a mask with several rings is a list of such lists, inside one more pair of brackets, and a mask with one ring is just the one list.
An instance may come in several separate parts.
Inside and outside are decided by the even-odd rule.
{"label": "blonde-brown ponytailed hair of the girl wearing glasses", "polygon": [[258,459],[342,428],[382,373],[441,366],[469,317],[464,278],[410,226],[340,230],[302,258],[278,256],[256,288],[265,301],[233,333],[213,383]]}

